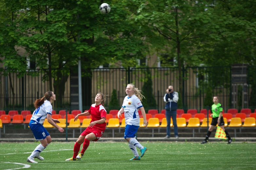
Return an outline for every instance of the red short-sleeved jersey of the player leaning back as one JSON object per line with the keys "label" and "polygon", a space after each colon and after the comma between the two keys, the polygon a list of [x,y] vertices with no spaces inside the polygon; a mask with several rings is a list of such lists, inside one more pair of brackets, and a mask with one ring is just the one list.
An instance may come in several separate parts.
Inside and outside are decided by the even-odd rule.
{"label": "red short-sleeved jersey of the player leaning back", "polygon": [[[93,104],[90,107],[88,112],[92,115],[91,122],[96,121],[96,120],[101,120],[102,118],[106,119],[106,117],[107,117],[107,112],[101,104],[98,106],[95,106],[95,104]],[[93,126],[93,128],[99,128],[104,131],[106,128],[106,124],[107,124],[106,122],[102,123],[102,124],[97,123]]]}

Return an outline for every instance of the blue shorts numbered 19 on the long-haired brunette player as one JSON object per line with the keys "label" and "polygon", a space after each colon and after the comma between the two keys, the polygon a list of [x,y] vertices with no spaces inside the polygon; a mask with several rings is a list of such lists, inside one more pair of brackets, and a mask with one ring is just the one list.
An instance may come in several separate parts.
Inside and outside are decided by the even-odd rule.
{"label": "blue shorts numbered 19 on the long-haired brunette player", "polygon": [[33,135],[35,136],[36,140],[43,140],[46,138],[46,136],[50,135],[45,129],[45,127],[42,124],[36,122],[35,120],[30,120],[29,127],[33,132]]}

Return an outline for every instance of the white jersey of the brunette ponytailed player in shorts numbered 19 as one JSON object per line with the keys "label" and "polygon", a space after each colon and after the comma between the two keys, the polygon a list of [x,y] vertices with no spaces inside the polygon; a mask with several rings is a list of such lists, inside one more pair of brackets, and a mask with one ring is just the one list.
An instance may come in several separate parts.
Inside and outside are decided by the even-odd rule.
{"label": "white jersey of the brunette ponytailed player in shorts numbered 19", "polygon": [[52,106],[48,100],[45,100],[41,106],[39,106],[34,112],[30,120],[35,120],[37,123],[43,124],[47,114],[51,115]]}

